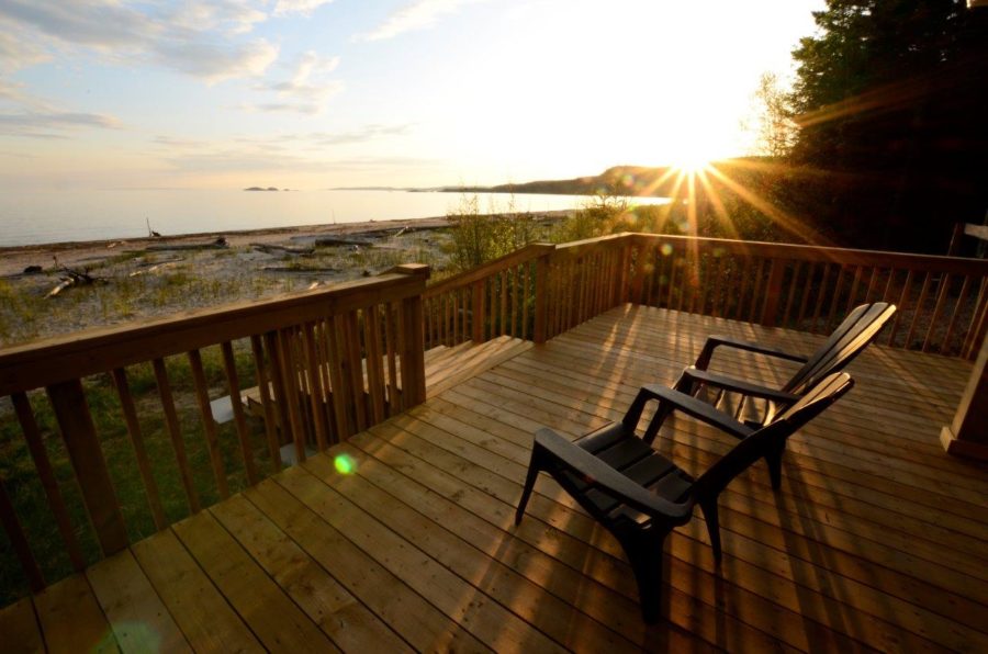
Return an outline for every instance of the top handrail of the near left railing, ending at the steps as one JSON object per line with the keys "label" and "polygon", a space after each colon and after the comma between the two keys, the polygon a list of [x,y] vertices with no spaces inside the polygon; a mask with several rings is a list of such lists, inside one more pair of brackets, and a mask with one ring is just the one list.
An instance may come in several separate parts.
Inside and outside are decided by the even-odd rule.
{"label": "top handrail of the near left railing, ending at the steps", "polygon": [[426,266],[397,267],[369,280],[270,300],[104,327],[0,350],[0,396],[184,353],[374,304],[419,295]]}

